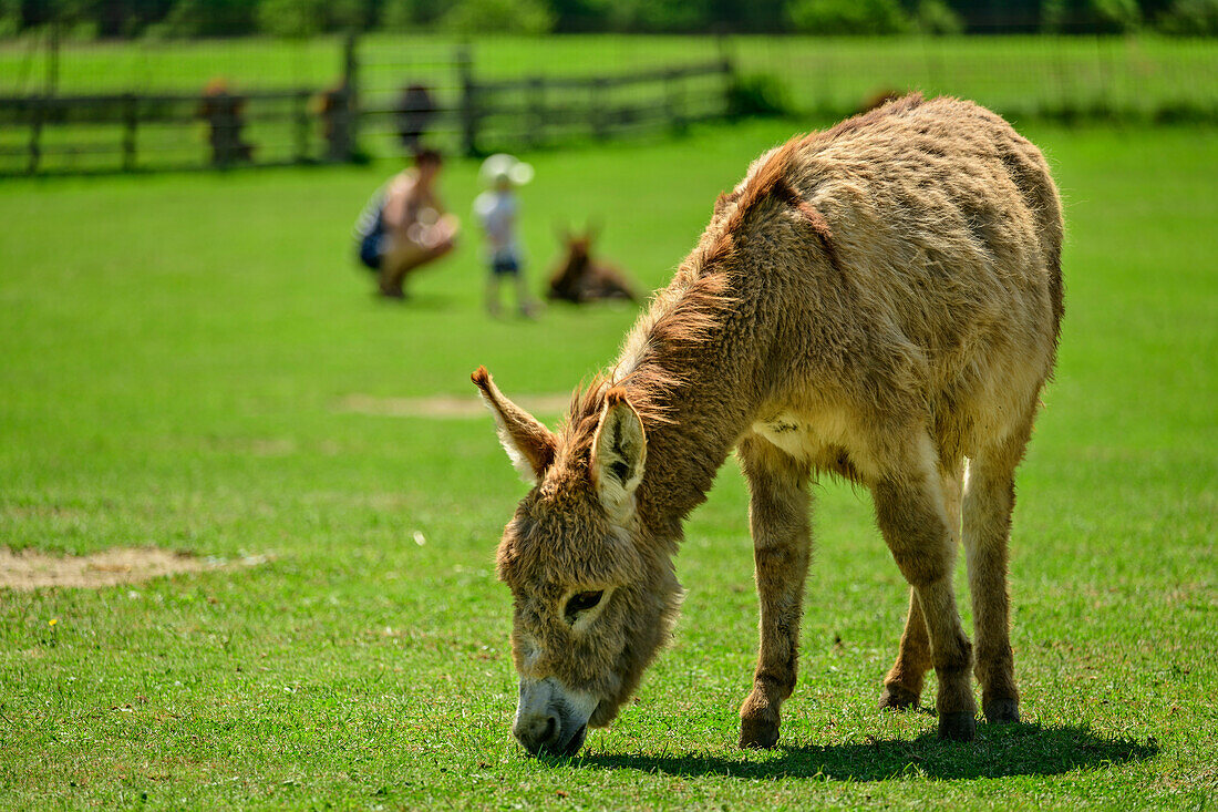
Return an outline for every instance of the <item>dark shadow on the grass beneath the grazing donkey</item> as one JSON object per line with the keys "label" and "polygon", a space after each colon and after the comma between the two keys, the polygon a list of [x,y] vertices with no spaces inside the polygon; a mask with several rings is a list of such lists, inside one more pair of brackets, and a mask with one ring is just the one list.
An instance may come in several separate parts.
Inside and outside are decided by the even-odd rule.
{"label": "dark shadow on the grass beneath the grazing donkey", "polygon": [[1086,727],[1011,724],[978,725],[968,744],[940,741],[934,733],[916,739],[872,739],[861,744],[780,744],[765,761],[687,756],[630,756],[590,753],[583,767],[637,769],[670,775],[725,775],[758,778],[818,778],[822,780],[879,782],[890,778],[933,779],[1057,775],[1074,769],[1097,769],[1158,753],[1153,738],[1145,740],[1102,736]]}

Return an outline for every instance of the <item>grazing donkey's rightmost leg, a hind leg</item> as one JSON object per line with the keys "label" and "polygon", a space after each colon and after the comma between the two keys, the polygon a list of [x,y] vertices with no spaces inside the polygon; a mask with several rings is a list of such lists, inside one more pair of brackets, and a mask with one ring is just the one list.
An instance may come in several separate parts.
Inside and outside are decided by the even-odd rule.
{"label": "grazing donkey's rightmost leg, a hind leg", "polygon": [[978,452],[965,485],[965,555],[977,636],[977,682],[990,722],[1019,721],[1019,693],[1011,652],[1007,546],[1015,508],[1015,468],[1023,458],[1032,419],[1001,443]]}

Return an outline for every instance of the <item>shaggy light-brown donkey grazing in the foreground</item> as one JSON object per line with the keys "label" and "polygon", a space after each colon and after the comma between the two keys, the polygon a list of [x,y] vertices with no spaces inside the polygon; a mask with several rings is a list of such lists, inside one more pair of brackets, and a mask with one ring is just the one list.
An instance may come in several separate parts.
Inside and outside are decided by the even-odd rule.
{"label": "shaggy light-brown donkey grazing in the foreground", "polygon": [[[972,739],[976,669],[987,718],[1017,721],[1007,539],[1061,239],[1035,146],[973,104],[906,96],[758,158],[557,433],[475,372],[535,483],[498,550],[520,743],[574,753],[638,685],[681,599],[682,519],[733,447],[761,605],[742,746],[777,741],[795,684],[808,484],[826,473],[871,489],[911,585],[881,706],[914,706],[934,667],[939,735]],[[976,661],[951,585],[961,513]]]}

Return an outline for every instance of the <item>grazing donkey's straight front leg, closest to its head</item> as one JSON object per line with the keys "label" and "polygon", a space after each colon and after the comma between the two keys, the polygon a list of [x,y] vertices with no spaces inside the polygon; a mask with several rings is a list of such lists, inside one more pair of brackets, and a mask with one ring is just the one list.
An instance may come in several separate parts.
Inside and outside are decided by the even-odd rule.
{"label": "grazing donkey's straight front leg, closest to its head", "polygon": [[753,691],[741,707],[741,746],[772,747],[778,708],[795,688],[811,546],[809,468],[756,435],[739,450],[752,491],[749,527],[761,604],[761,644]]}

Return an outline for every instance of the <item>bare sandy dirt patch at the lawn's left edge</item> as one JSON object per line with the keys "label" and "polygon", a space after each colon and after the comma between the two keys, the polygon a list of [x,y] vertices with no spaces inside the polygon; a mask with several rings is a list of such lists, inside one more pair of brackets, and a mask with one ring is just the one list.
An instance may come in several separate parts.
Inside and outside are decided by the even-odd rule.
{"label": "bare sandy dirt patch at the lawn's left edge", "polygon": [[[264,556],[251,556],[238,563],[253,566],[263,561]],[[116,547],[88,556],[56,556],[37,550],[13,551],[0,547],[0,589],[97,589],[183,572],[220,569],[230,563],[222,558],[201,558],[190,552],[158,547]]]}

